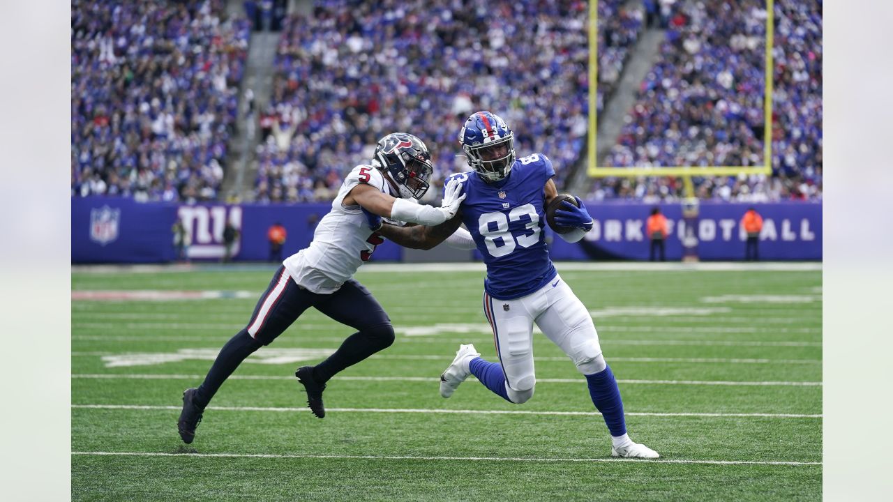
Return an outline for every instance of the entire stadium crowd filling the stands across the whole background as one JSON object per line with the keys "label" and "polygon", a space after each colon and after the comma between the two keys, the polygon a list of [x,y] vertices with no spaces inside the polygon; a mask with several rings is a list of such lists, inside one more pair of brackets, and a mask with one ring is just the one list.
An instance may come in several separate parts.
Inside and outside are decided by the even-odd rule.
{"label": "entire stadium crowd filling the stands across the whole background", "polygon": [[[382,131],[426,141],[432,186],[467,165],[456,136],[500,114],[519,156],[549,155],[563,187],[588,128],[588,4],[316,0],[282,22],[259,113],[255,200],[330,199]],[[598,3],[601,111],[646,25],[666,29],[608,166],[764,164],[761,0]],[[705,199],[822,197],[822,5],[776,0],[773,175],[697,178]],[[71,193],[213,200],[237,116],[250,23],[222,0],[73,0]],[[681,197],[679,179],[595,180],[588,197]],[[439,197],[430,190],[428,198]]]}

